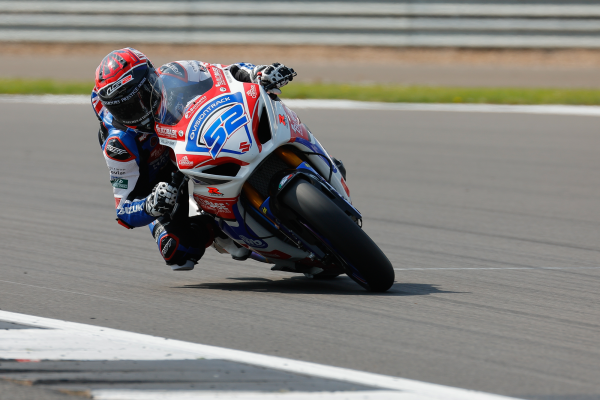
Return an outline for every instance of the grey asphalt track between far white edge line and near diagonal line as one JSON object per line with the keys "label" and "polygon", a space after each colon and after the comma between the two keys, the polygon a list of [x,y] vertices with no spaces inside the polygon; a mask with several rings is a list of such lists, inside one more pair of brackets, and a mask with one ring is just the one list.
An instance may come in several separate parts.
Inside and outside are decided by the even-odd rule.
{"label": "grey asphalt track between far white edge line and near diagonal line", "polygon": [[146,228],[114,221],[91,107],[0,104],[0,309],[527,399],[600,397],[600,119],[299,115],[345,162],[364,229],[398,269],[388,293],[214,251],[171,272]]}

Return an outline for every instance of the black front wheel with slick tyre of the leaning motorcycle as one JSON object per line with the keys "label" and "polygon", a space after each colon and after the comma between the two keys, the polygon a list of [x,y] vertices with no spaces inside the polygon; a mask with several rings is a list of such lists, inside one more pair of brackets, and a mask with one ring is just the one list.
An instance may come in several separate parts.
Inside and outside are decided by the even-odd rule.
{"label": "black front wheel with slick tyre of the leaning motorcycle", "polygon": [[394,284],[390,260],[325,193],[298,179],[285,189],[280,200],[337,253],[356,283],[373,292],[385,292]]}

